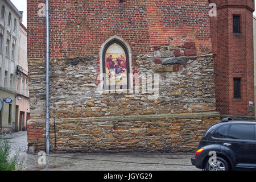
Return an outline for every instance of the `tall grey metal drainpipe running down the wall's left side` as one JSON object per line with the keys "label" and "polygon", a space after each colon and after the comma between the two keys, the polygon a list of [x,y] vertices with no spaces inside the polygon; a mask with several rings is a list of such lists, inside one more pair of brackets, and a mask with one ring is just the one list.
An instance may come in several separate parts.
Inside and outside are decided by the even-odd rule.
{"label": "tall grey metal drainpipe running down the wall's left side", "polygon": [[46,153],[49,154],[49,0],[46,0]]}

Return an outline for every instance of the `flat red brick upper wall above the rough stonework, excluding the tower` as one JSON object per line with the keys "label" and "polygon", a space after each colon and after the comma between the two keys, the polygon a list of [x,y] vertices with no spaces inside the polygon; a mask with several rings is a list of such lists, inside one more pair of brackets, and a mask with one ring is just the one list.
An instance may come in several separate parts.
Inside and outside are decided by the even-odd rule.
{"label": "flat red brick upper wall above the rough stonework, excluding the tower", "polygon": [[[39,3],[28,0],[28,59],[45,57],[46,20],[39,17]],[[195,42],[211,50],[208,1],[86,0],[49,1],[50,56],[98,55],[110,36],[123,38],[133,54],[152,46]]]}

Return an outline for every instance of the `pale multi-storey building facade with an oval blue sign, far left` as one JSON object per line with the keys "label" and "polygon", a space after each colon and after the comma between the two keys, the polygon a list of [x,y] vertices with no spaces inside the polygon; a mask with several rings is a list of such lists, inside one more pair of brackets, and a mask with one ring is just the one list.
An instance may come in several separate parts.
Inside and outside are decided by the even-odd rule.
{"label": "pale multi-storey building facade with an oval blue sign, far left", "polygon": [[21,22],[22,12],[11,1],[0,1],[0,129],[5,132],[18,127],[15,100]]}

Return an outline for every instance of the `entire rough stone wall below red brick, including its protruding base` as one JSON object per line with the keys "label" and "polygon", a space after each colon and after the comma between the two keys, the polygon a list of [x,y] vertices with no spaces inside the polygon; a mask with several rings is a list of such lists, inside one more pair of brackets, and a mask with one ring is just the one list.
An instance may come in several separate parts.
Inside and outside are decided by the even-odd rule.
{"label": "entire rough stone wall below red brick, including its protruding base", "polygon": [[[98,93],[97,55],[50,60],[49,112],[51,122],[56,122],[57,151],[195,150],[205,130],[220,121],[215,112],[212,53],[197,53],[192,42],[153,49],[132,55],[131,65],[140,77],[159,74],[155,100],[148,97],[154,93]],[[45,147],[45,70],[45,60],[29,60],[28,145],[36,150]],[[52,125],[50,138],[53,150]]]}

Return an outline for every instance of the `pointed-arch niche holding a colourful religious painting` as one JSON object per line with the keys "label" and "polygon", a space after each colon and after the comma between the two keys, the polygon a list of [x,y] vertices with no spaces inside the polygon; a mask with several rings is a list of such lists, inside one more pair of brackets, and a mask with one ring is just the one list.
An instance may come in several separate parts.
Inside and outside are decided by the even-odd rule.
{"label": "pointed-arch niche holding a colourful religious painting", "polygon": [[121,42],[113,40],[106,44],[102,64],[105,90],[129,89],[129,55]]}

